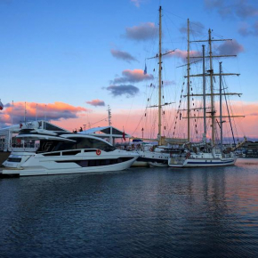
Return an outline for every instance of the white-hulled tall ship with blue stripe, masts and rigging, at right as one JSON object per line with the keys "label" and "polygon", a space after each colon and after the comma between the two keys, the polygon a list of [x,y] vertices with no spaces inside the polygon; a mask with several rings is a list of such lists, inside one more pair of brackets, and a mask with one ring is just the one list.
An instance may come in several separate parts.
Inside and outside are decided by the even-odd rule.
{"label": "white-hulled tall ship with blue stripe, masts and rigging, at right", "polygon": [[[207,40],[195,40],[194,42],[207,42],[209,44],[209,55],[206,55],[205,51],[205,44],[202,45],[203,52],[202,56],[198,57],[191,57],[191,58],[198,58],[203,61],[203,73],[198,75],[190,75],[190,63],[189,63],[189,20],[188,20],[188,64],[187,64],[187,94],[184,95],[184,97],[187,98],[187,107],[188,109],[179,109],[177,113],[187,111],[187,115],[182,118],[187,119],[187,128],[188,128],[188,143],[185,144],[185,149],[180,154],[171,155],[171,157],[168,159],[168,165],[171,167],[201,167],[201,166],[225,166],[225,165],[235,165],[237,156],[235,155],[234,151],[241,147],[244,142],[246,141],[246,138],[244,138],[244,141],[239,142],[238,145],[235,144],[235,147],[232,149],[224,149],[223,146],[223,123],[228,122],[230,124],[230,131],[232,133],[232,138],[234,139],[234,133],[232,130],[231,125],[231,119],[233,117],[243,117],[243,116],[233,116],[230,114],[228,103],[227,103],[227,96],[228,95],[240,95],[240,93],[226,93],[225,91],[225,85],[223,85],[222,77],[223,76],[233,76],[239,74],[224,74],[222,73],[222,62],[220,62],[219,66],[219,73],[214,73],[214,66],[213,66],[213,58],[218,57],[229,57],[230,55],[220,55],[216,56],[212,52],[212,42],[213,41],[227,41],[227,39],[213,39],[211,36],[211,29],[208,31],[209,37]],[[206,58],[209,59],[209,69],[206,69]],[[195,62],[193,62],[195,63]],[[192,92],[192,85],[190,81],[190,77],[202,77],[203,84],[202,84],[202,92],[201,93],[193,93]],[[206,77],[209,77],[209,83],[210,83],[210,90],[207,93],[206,92]],[[214,83],[215,83],[215,77],[219,77],[219,93],[214,93],[216,89],[214,89]],[[190,91],[191,89],[191,91]],[[214,104],[214,97],[219,96],[219,109],[216,109]],[[182,96],[182,95],[181,95]],[[202,97],[202,101],[198,101],[198,104],[201,105],[201,107],[194,107],[193,109],[190,109],[190,101],[194,101],[194,97]],[[210,98],[210,105],[207,107],[206,105],[206,99]],[[222,109],[222,97],[225,98],[225,106],[227,107],[227,114],[226,111]],[[192,102],[194,105],[194,102]],[[218,107],[218,106],[217,106]],[[199,111],[202,111],[202,114],[200,114]],[[196,116],[196,112],[198,111],[198,116]],[[219,113],[219,116],[216,115],[216,113]],[[181,117],[181,114],[180,114]],[[219,118],[219,119],[217,119]],[[227,119],[225,121],[224,119]],[[194,128],[191,128],[190,126],[190,119],[194,119],[196,125]],[[203,139],[200,142],[194,142],[190,139],[190,130],[194,133],[198,133],[198,124],[197,121],[202,120],[203,123]],[[207,142],[207,120],[210,121],[210,127],[211,127],[211,141]],[[175,129],[175,127],[174,127]],[[217,137],[216,139],[216,135]]]}

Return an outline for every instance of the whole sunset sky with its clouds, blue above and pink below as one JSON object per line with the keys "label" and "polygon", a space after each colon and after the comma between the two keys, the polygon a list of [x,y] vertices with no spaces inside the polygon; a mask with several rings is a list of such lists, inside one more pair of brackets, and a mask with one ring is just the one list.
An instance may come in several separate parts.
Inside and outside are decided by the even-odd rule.
{"label": "whole sunset sky with its clouds, blue above and pink below", "polygon": [[[175,102],[164,108],[166,132],[175,127],[185,81],[186,68],[177,67],[186,61],[189,19],[191,40],[206,39],[208,28],[214,39],[233,39],[214,42],[214,52],[238,55],[222,60],[223,71],[240,74],[227,79],[230,92],[243,93],[232,99],[235,114],[246,116],[236,122],[238,134],[258,138],[258,2],[252,0],[0,0],[0,126],[23,121],[25,105],[27,121],[46,117],[69,130],[103,126],[109,105],[112,125],[126,133],[155,131],[157,120],[142,117],[157,92],[157,60],[146,59],[158,52],[160,5],[163,52],[174,50],[163,61],[164,101]],[[190,44],[190,51],[198,55],[201,44]]]}

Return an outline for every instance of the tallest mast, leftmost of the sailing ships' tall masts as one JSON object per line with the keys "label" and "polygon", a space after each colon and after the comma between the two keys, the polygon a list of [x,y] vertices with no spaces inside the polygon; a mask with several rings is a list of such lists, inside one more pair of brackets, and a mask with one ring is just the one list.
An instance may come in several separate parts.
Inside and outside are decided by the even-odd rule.
{"label": "tallest mast, leftmost of the sailing ships' tall masts", "polygon": [[158,145],[161,145],[161,69],[162,69],[162,52],[161,52],[161,6],[159,6],[159,55],[158,55]]}

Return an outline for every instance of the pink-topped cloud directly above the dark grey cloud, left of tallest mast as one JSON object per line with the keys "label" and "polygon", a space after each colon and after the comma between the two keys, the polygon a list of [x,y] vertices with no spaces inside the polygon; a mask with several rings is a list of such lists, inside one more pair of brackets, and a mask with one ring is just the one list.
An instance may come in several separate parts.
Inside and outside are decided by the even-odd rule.
{"label": "pink-topped cloud directly above the dark grey cloud, left of tallest mast", "polygon": [[125,69],[122,72],[122,77],[117,77],[114,79],[113,84],[125,84],[125,83],[140,83],[142,81],[152,80],[153,76],[146,74],[144,75],[144,71],[141,69]]}

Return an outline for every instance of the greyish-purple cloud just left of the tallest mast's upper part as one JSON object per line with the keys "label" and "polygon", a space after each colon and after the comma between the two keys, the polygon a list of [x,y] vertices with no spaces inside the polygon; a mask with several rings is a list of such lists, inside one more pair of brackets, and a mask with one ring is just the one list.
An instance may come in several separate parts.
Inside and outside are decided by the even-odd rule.
{"label": "greyish-purple cloud just left of the tallest mast's upper part", "polygon": [[153,22],[141,23],[140,26],[125,28],[125,37],[137,41],[144,41],[157,36],[157,27]]}

